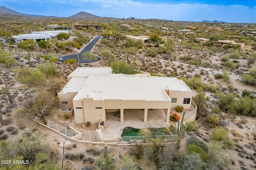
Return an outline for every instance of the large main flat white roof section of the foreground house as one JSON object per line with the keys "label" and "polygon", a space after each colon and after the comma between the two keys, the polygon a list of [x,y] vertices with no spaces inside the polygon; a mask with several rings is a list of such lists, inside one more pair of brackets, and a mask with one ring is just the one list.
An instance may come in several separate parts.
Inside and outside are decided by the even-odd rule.
{"label": "large main flat white roof section of the foreground house", "polygon": [[170,100],[164,89],[191,91],[182,80],[175,77],[150,74],[90,75],[74,100],[82,100],[86,96],[93,96],[94,100]]}

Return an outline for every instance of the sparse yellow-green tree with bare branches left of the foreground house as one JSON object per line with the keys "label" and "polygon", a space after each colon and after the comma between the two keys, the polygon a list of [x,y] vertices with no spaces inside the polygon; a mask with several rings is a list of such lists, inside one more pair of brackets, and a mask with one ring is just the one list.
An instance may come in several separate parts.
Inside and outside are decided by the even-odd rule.
{"label": "sparse yellow-green tree with bare branches left of the foreground house", "polygon": [[22,103],[22,113],[28,113],[36,116],[39,120],[47,124],[46,117],[52,113],[52,110],[60,106],[56,98],[42,93],[28,98]]}

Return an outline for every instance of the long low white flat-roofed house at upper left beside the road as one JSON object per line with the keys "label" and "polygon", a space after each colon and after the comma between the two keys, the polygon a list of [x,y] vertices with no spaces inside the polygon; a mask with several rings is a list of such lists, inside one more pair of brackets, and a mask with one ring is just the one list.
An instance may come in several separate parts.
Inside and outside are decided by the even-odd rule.
{"label": "long low white flat-roofed house at upper left beside the road", "polygon": [[27,39],[34,39],[34,41],[39,42],[41,40],[48,41],[50,39],[56,39],[59,33],[68,33],[68,31],[37,31],[30,34],[14,35],[12,37],[16,39],[16,43]]}

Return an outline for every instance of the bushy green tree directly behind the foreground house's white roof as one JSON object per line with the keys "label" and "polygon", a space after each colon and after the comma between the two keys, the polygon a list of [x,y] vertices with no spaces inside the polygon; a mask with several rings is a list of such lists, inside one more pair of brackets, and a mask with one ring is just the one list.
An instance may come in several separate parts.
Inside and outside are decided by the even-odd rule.
{"label": "bushy green tree directly behind the foreground house's white roof", "polygon": [[111,64],[115,73],[135,74],[136,67],[133,64],[126,63],[124,60],[119,60]]}

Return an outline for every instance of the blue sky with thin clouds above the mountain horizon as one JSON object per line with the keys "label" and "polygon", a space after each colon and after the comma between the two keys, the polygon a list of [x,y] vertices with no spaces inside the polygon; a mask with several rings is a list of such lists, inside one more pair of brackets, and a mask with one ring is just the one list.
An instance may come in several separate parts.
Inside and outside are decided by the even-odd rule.
{"label": "blue sky with thin clouds above the mountain horizon", "polygon": [[0,6],[58,17],[83,11],[115,18],[256,23],[256,0],[0,0]]}

